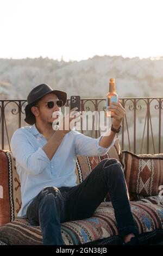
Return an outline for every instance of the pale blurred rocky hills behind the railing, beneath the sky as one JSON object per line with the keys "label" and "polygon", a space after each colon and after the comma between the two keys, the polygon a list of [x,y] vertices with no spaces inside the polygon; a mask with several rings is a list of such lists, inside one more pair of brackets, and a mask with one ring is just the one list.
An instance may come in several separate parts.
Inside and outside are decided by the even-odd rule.
{"label": "pale blurred rocky hills behind the railing, beneath the sky", "polygon": [[70,97],[105,97],[109,78],[115,78],[120,97],[161,96],[160,59],[95,56],[80,62],[48,58],[0,59],[0,99],[26,99],[32,88],[48,83]]}

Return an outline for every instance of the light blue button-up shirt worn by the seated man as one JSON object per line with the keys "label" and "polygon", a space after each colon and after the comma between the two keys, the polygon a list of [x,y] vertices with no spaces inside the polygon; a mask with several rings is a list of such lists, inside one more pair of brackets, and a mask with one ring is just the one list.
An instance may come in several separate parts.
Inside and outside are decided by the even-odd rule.
{"label": "light blue button-up shirt worn by the seated man", "polygon": [[99,146],[98,139],[72,130],[64,136],[51,160],[42,147],[47,140],[33,126],[25,126],[14,132],[11,150],[16,159],[16,169],[21,182],[22,207],[17,217],[26,217],[27,207],[46,186],[76,186],[76,157],[102,156],[109,148]]}

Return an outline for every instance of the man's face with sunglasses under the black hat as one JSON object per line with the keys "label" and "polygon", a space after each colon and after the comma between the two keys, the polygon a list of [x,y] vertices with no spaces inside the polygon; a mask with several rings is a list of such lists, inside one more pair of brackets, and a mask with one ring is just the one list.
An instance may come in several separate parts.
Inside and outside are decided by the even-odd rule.
{"label": "man's face with sunglasses under the black hat", "polygon": [[[39,119],[43,123],[51,124],[57,117],[52,118],[52,114],[55,111],[61,111],[61,108],[57,106],[56,101],[59,100],[57,95],[54,93],[49,93],[42,97],[42,99],[37,103],[37,113],[36,121]],[[48,108],[47,102],[54,101],[54,106],[52,108]]]}

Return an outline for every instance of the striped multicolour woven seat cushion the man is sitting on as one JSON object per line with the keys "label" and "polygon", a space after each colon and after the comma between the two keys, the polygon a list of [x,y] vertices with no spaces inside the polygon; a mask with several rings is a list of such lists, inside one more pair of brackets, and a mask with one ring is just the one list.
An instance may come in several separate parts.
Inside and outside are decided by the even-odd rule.
{"label": "striped multicolour woven seat cushion the man is sitting on", "polygon": [[[131,202],[131,210],[139,234],[143,233],[142,240],[156,233],[163,234],[162,197]],[[99,205],[91,218],[62,223],[61,232],[66,245],[120,243],[111,203]],[[0,228],[0,240],[9,245],[41,245],[41,230],[30,226],[27,220],[15,220]]]}

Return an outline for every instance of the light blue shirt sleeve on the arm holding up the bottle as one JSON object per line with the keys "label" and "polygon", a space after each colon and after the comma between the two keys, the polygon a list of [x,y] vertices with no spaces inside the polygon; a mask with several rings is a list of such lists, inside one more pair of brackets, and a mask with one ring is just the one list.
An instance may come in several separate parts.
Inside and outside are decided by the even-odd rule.
{"label": "light blue shirt sleeve on the arm holding up the bottle", "polygon": [[105,155],[109,148],[114,144],[114,141],[109,145],[108,148],[103,148],[99,145],[99,141],[102,136],[98,139],[91,138],[83,135],[77,131],[74,132],[75,137],[75,148],[77,155],[83,156],[103,156]]}

